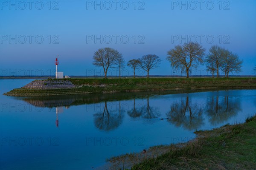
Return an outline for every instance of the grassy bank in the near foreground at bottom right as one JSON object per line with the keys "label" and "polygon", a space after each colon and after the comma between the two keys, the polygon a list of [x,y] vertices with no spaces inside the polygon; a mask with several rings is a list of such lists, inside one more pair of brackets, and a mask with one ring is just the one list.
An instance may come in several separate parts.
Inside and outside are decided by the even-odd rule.
{"label": "grassy bank in the near foreground at bottom right", "polygon": [[195,133],[197,138],[187,143],[151,147],[144,154],[126,154],[109,161],[121,168],[135,164],[132,170],[256,169],[256,116],[242,124]]}

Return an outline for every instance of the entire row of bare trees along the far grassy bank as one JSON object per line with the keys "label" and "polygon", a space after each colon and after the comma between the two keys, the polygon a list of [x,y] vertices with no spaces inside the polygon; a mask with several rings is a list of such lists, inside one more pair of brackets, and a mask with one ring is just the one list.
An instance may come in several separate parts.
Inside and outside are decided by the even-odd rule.
{"label": "entire row of bare trees along the far grassy bank", "polygon": [[[212,77],[216,73],[217,78],[219,78],[219,70],[225,72],[225,77],[229,77],[229,74],[232,72],[238,73],[241,71],[242,60],[239,59],[237,54],[233,54],[231,51],[218,45],[213,45],[207,55],[205,51],[205,48],[197,42],[188,42],[184,45],[176,45],[170,51],[167,51],[166,59],[172,67],[181,68],[183,71],[186,71],[187,78],[189,78],[191,68],[197,68],[198,65],[203,64],[206,64],[207,71],[212,73]],[[131,59],[128,61],[127,66],[133,69],[134,78],[137,68],[145,70],[148,77],[149,71],[157,68],[160,62],[161,59],[157,55],[148,54],[140,59]],[[105,78],[107,78],[109,68],[118,67],[119,78],[121,78],[121,69],[125,66],[125,60],[122,54],[113,48],[100,48],[94,52],[93,65],[103,67]]]}

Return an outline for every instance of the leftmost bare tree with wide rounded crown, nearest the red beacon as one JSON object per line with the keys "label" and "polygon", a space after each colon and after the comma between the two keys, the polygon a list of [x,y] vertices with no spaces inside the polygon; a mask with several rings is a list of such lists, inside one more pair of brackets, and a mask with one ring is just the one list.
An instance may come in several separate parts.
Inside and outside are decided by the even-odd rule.
{"label": "leftmost bare tree with wide rounded crown, nearest the red beacon", "polygon": [[117,59],[120,56],[122,56],[122,54],[113,48],[100,48],[98,51],[94,52],[93,65],[103,67],[105,78],[107,78],[108,68],[117,65]]}

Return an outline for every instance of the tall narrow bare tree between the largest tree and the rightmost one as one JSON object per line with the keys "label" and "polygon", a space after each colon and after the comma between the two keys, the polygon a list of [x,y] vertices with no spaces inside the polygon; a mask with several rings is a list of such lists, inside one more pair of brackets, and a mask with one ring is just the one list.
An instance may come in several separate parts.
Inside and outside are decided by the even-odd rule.
{"label": "tall narrow bare tree between the largest tree and the rightmost one", "polygon": [[219,78],[219,68],[221,68],[222,64],[223,64],[223,59],[224,59],[224,49],[219,47],[218,45],[213,45],[210,49],[209,49],[209,54],[207,56],[208,58],[212,58],[214,60],[214,64],[216,67],[216,74],[217,74],[217,78]]}

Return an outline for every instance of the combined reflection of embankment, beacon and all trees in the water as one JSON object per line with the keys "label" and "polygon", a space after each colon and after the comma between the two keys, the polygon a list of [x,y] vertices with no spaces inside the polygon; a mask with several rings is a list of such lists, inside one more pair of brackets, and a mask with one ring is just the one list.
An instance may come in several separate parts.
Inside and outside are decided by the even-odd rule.
{"label": "combined reflection of embankment, beacon and all trees in the water", "polygon": [[[222,91],[224,92],[224,91]],[[160,116],[176,127],[186,130],[197,130],[205,125],[207,119],[211,125],[219,125],[226,122],[232,116],[241,111],[241,100],[229,96],[227,93],[212,93],[207,97],[195,97],[192,94],[164,95],[164,98],[173,98],[173,102],[158,96],[161,107],[155,104],[155,97],[151,94],[116,94],[116,95],[89,95],[68,96],[68,98],[26,98],[24,101],[37,107],[56,107],[56,126],[59,125],[58,110],[61,106],[69,108],[70,105],[93,105],[100,111],[93,112],[94,125],[99,130],[110,131],[122,124],[125,114],[136,119],[153,120]],[[146,101],[145,101],[146,99]],[[118,102],[118,103],[114,103]],[[113,108],[113,104],[115,107]],[[125,104],[126,107],[122,108]],[[153,104],[153,106],[151,106]],[[99,106],[100,105],[100,106]],[[161,108],[161,111],[159,111]],[[165,111],[166,110],[166,111]],[[163,120],[163,119],[162,119]]]}

